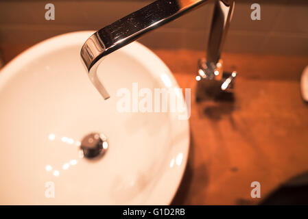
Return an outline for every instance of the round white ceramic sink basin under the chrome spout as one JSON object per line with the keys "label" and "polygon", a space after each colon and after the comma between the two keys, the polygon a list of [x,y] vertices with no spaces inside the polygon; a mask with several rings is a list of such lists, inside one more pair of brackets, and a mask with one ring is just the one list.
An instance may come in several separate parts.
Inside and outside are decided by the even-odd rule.
{"label": "round white ceramic sink basin under the chrome spout", "polygon": [[[110,94],[104,101],[80,61],[91,34],[50,38],[1,70],[1,205],[168,205],[176,194],[189,151],[188,120],[176,112],[117,110],[119,89],[178,88],[176,80],[133,42],[98,68]],[[93,132],[108,142],[99,159],[80,149]]]}

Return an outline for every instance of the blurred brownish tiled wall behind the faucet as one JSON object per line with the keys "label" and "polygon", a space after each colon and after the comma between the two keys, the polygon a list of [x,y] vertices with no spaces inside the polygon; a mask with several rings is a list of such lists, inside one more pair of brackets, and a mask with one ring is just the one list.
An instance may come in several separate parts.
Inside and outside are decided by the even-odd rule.
{"label": "blurred brownish tiled wall behind the faucet", "polygon": [[[51,36],[108,23],[151,3],[149,0],[1,0],[0,44],[34,44]],[[54,3],[56,20],[45,20]],[[261,5],[261,21],[250,19],[250,5]],[[178,18],[140,41],[166,49],[206,48],[213,3]],[[307,0],[238,0],[224,51],[308,55]]]}

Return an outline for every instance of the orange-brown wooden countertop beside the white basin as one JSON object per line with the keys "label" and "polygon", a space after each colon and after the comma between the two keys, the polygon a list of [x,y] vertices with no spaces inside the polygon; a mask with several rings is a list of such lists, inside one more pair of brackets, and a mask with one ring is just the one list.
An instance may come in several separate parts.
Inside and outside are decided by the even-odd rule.
{"label": "orange-brown wooden countertop beside the white basin", "polygon": [[[189,162],[173,204],[253,205],[308,170],[308,104],[300,74],[308,57],[224,54],[239,73],[235,101],[194,101],[196,51],[156,50],[181,88],[192,88]],[[250,183],[261,183],[251,198]]]}

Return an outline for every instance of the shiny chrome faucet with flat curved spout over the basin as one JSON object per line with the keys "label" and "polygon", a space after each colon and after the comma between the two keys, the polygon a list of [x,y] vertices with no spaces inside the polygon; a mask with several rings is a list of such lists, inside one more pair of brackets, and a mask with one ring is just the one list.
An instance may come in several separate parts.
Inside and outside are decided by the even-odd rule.
{"label": "shiny chrome faucet with flat curved spout over the basin", "polygon": [[[211,0],[158,0],[115,21],[93,34],[82,46],[81,57],[88,70],[89,77],[97,90],[109,98],[107,90],[97,77],[97,66],[103,57],[137,40],[143,34],[161,27],[174,19]],[[206,52],[206,60],[199,61],[198,83],[204,79],[221,82],[221,90],[227,90],[233,83],[236,73],[224,76],[220,54],[232,18],[235,0],[215,1],[213,21]],[[202,85],[201,85],[202,86]],[[200,86],[199,86],[200,87]]]}

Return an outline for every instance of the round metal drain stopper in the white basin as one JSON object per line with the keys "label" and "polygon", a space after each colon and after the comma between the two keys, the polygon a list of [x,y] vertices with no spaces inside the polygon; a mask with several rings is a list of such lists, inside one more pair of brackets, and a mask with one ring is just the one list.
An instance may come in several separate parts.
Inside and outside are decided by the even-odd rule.
{"label": "round metal drain stopper in the white basin", "polygon": [[106,136],[100,133],[90,133],[82,139],[80,148],[86,158],[102,157],[108,149]]}

